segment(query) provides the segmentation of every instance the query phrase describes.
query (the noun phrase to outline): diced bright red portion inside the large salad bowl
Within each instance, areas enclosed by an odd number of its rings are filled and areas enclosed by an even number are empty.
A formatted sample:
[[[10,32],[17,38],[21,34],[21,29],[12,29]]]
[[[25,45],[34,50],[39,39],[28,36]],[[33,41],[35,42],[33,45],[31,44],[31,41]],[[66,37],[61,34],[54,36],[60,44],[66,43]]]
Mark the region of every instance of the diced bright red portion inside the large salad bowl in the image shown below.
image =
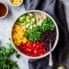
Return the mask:
[[[44,42],[31,42],[28,41],[26,44],[21,43],[19,49],[28,56],[36,57],[46,53],[44,48]]]

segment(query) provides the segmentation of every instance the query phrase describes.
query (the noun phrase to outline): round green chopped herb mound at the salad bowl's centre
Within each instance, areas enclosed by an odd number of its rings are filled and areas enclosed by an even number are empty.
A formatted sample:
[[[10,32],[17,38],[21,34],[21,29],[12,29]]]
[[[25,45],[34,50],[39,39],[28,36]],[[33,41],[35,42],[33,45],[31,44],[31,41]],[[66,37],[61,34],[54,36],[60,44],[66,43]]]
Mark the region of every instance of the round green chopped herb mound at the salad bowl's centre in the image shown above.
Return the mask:
[[[33,27],[32,29],[29,29],[26,33],[27,39],[30,41],[38,41],[40,39],[41,32],[38,31],[36,27]]]

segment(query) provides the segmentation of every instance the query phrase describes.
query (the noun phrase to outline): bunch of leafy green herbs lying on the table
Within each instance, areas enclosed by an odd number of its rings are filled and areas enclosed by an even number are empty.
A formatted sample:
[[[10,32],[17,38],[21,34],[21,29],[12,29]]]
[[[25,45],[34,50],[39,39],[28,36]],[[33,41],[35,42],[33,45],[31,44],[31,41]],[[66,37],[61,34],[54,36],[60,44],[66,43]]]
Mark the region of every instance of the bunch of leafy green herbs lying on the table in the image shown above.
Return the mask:
[[[5,48],[0,45],[0,69],[19,69],[16,62],[9,59],[9,57],[15,53],[11,44],[7,45]]]

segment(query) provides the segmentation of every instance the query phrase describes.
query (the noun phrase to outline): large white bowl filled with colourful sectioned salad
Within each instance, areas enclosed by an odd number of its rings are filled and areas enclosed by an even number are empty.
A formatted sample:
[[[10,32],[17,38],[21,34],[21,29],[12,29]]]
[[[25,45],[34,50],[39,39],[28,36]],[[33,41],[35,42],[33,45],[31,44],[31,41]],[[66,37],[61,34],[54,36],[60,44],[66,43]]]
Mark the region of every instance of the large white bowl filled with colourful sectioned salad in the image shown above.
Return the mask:
[[[14,48],[31,59],[39,59],[50,54],[49,40],[53,51],[59,39],[55,20],[47,13],[31,10],[21,14],[13,24],[11,39]]]

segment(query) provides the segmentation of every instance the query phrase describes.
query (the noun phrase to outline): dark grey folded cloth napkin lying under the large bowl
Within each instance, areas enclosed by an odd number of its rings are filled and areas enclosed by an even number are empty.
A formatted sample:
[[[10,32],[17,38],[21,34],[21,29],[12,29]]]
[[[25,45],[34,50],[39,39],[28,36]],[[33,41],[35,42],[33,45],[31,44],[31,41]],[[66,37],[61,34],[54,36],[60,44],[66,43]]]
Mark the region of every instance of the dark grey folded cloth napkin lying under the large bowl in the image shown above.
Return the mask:
[[[47,56],[38,60],[30,59],[29,69],[57,69],[57,66],[65,65],[66,59],[69,58],[67,56],[69,36],[62,2],[59,0],[24,0],[24,6],[26,10],[41,10],[50,14],[57,22],[60,33],[59,42],[53,51],[53,67],[49,67],[49,56]]]

